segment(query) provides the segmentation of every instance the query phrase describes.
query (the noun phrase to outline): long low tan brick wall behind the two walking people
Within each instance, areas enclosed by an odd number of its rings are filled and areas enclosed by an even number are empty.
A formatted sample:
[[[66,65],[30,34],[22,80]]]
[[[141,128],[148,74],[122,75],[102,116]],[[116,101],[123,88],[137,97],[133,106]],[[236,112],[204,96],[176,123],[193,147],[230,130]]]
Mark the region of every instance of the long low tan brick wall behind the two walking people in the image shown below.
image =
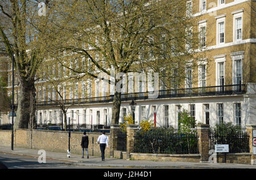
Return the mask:
[[[89,137],[88,152],[90,156],[101,156],[100,145],[96,144],[98,136],[101,133],[86,133]],[[81,139],[82,132],[71,132],[70,148],[71,154],[82,154]],[[110,134],[106,133],[106,136]],[[92,144],[93,142],[93,144]],[[11,131],[0,131],[0,144],[11,144]],[[14,131],[14,148],[32,148],[44,149],[53,152],[67,152],[68,150],[68,132],[64,131],[46,131],[46,130],[25,130],[16,129]],[[105,156],[109,156],[109,149],[106,148]]]

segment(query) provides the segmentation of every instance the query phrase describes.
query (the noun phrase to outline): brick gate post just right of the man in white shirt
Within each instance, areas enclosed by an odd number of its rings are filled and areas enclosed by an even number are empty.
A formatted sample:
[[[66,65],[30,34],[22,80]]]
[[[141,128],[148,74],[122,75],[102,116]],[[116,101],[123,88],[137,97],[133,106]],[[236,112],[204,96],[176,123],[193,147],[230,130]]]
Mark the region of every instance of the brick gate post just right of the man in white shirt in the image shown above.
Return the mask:
[[[112,124],[110,125],[110,140],[109,140],[109,146],[110,146],[110,157],[114,157],[114,151],[117,150],[117,141],[118,141],[118,132],[121,130],[119,125]]]

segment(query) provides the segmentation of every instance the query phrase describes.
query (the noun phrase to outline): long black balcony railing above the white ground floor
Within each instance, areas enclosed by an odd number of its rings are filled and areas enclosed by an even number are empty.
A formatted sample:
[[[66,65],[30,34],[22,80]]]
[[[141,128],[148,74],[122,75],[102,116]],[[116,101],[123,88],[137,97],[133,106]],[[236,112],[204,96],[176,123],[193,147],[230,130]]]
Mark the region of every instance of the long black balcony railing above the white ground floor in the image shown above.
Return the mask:
[[[246,93],[245,84],[234,85],[218,85],[210,87],[198,87],[198,88],[185,88],[185,89],[168,89],[158,91],[157,99],[160,98],[177,98],[177,97],[203,97],[203,96],[225,96],[225,95],[242,95]],[[126,93],[121,95],[122,101],[131,100],[148,100],[151,99],[152,92],[139,92],[139,93]],[[156,93],[157,95],[157,93]],[[108,103],[113,102],[114,95],[102,96],[102,97],[88,97],[77,98],[72,100],[63,100],[66,105],[75,104],[92,104],[92,103]],[[45,105],[59,105],[60,102],[56,101],[39,101],[38,106]]]

